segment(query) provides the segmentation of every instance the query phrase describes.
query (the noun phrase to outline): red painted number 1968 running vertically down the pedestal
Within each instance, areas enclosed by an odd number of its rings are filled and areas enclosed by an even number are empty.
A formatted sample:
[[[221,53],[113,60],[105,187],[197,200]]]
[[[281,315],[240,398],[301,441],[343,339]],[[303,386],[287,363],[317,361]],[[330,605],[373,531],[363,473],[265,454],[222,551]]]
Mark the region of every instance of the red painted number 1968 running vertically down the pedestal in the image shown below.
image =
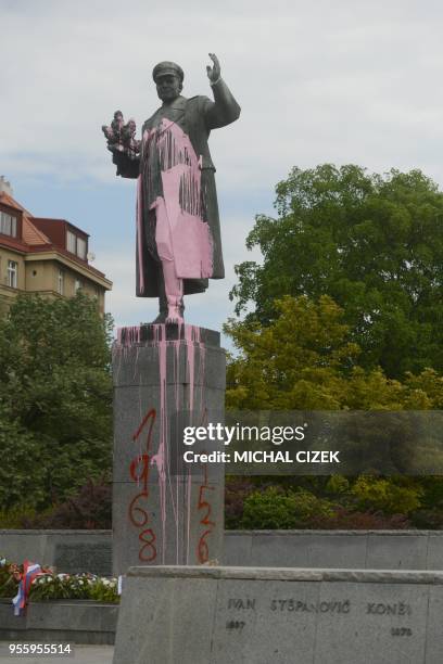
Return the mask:
[[[155,548],[155,533],[153,528],[145,527],[149,524],[149,513],[145,509],[145,503],[149,498],[149,469],[150,469],[150,451],[152,429],[154,426],[156,412],[152,408],[147,412],[140,426],[132,436],[132,442],[137,442],[144,429],[147,429],[145,451],[132,459],[129,465],[129,474],[134,482],[137,482],[141,490],[132,498],[129,503],[128,516],[130,523],[139,528],[139,540],[141,547],[139,549],[139,560],[141,562],[152,562],[155,560],[157,551]]]

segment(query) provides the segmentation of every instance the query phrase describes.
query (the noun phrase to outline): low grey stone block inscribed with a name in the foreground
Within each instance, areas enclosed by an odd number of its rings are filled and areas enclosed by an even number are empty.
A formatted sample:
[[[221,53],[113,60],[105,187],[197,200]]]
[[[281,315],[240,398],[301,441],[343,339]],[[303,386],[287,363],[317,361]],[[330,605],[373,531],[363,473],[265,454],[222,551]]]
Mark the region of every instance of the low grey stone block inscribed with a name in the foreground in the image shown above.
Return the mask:
[[[113,664],[441,664],[443,574],[132,567]]]

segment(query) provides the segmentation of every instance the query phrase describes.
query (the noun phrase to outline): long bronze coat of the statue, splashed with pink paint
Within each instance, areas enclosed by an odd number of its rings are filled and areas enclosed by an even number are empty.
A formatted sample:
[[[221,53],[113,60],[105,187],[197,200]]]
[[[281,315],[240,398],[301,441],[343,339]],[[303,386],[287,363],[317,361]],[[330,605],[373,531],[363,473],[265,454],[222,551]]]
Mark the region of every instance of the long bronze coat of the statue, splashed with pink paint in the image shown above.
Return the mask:
[[[173,230],[170,246],[178,266],[177,276],[183,278],[185,293],[203,292],[207,278],[225,276],[215,166],[207,141],[212,129],[225,127],[239,117],[240,106],[223,79],[212,90],[214,101],[207,97],[180,95],[170,105],[162,105],[142,127],[138,171],[134,162],[118,165],[124,177],[138,177],[137,295],[140,297],[159,295],[159,258],[152,244],[155,244],[153,238],[160,215],[170,221],[173,209],[176,230]],[[180,177],[179,183],[175,178],[176,186],[174,177],[170,179],[174,169]]]

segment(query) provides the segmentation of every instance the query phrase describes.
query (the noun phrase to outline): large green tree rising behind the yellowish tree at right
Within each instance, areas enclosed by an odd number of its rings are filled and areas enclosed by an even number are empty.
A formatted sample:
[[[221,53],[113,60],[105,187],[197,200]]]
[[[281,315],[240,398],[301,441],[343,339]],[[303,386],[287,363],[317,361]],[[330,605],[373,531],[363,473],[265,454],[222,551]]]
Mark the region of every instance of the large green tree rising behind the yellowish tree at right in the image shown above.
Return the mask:
[[[344,310],[367,369],[389,378],[443,371],[443,194],[419,170],[368,175],[326,164],[294,168],[276,188],[276,219],[246,240],[263,264],[237,266],[231,291],[249,322],[267,325],[283,295],[329,295]]]

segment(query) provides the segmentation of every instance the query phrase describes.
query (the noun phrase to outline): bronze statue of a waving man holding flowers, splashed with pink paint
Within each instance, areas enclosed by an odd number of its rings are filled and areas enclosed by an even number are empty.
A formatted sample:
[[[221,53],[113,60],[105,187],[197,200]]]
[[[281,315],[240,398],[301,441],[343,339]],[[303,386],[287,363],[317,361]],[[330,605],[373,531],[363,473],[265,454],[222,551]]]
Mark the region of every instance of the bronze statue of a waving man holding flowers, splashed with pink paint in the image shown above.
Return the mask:
[[[220,77],[218,59],[210,58],[214,101],[182,97],[181,67],[161,62],[152,76],[163,103],[145,120],[141,143],[132,141],[129,150],[103,128],[117,175],[138,178],[137,295],[159,297],[154,322],[182,322],[183,295],[201,293],[208,279],[225,277],[207,139],[212,129],[233,123],[240,106]]]

